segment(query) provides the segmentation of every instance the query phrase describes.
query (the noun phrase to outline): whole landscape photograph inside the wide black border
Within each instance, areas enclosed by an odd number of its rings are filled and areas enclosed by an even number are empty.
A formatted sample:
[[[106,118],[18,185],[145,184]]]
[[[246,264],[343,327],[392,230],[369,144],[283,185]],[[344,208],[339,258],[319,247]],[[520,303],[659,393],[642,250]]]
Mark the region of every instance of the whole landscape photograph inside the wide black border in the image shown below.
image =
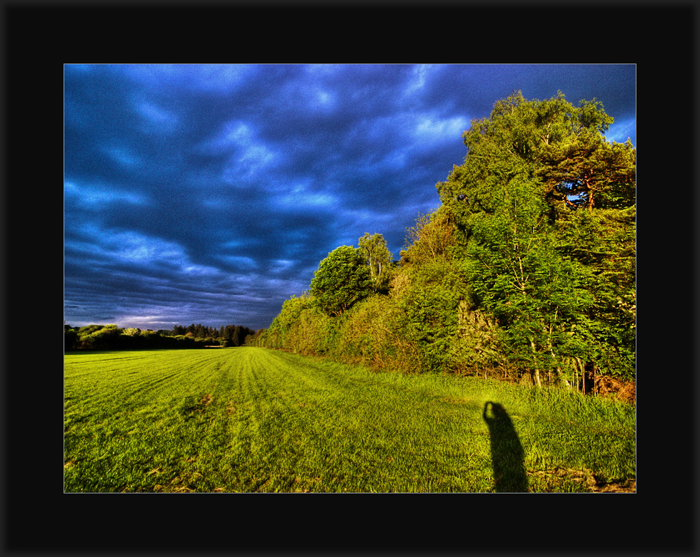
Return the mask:
[[[64,495],[629,500],[637,70],[63,64]]]

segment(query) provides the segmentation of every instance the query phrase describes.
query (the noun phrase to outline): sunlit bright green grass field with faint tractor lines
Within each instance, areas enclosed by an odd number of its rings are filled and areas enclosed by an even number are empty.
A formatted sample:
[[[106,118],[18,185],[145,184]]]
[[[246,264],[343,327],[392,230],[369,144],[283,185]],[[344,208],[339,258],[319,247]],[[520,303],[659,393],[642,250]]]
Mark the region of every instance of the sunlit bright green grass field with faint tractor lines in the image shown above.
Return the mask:
[[[66,492],[634,491],[624,403],[264,348],[64,361]]]

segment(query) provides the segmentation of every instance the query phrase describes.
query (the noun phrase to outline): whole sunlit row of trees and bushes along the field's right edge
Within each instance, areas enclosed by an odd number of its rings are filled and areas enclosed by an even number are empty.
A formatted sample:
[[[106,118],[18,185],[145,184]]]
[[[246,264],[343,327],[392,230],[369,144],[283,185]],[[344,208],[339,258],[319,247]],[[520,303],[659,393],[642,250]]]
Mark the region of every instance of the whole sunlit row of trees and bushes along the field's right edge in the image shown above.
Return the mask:
[[[340,246],[250,342],[582,391],[633,381],[636,151],[606,140],[612,122],[561,92],[496,102],[398,263],[380,234]]]

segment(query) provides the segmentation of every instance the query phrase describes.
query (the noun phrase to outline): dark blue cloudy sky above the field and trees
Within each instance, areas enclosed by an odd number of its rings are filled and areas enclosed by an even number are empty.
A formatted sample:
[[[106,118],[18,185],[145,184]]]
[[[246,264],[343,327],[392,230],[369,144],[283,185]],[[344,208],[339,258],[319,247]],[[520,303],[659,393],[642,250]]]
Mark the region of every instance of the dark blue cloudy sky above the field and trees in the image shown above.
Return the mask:
[[[633,64],[66,65],[66,323],[266,328],[336,247],[398,259],[517,89],[595,97],[636,145]]]

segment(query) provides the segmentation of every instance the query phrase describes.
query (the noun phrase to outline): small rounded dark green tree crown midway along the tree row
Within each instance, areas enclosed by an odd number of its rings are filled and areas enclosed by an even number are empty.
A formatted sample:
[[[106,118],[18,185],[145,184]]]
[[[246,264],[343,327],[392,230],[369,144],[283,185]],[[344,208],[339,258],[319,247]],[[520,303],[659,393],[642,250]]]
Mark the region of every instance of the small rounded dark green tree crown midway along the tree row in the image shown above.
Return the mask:
[[[321,261],[311,279],[314,305],[329,316],[339,316],[369,296],[371,271],[359,250],[340,246]]]

